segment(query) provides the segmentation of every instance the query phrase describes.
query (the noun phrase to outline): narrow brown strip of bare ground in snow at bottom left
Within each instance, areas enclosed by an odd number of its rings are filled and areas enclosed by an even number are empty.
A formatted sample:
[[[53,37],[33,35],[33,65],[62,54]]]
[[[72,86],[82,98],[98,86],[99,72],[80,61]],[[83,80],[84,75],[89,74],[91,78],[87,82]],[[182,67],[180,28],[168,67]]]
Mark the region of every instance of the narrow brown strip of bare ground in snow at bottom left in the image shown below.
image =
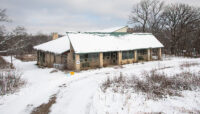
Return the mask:
[[[33,109],[31,114],[49,114],[51,106],[56,103],[56,95],[53,95],[48,103],[41,104],[40,106]]]

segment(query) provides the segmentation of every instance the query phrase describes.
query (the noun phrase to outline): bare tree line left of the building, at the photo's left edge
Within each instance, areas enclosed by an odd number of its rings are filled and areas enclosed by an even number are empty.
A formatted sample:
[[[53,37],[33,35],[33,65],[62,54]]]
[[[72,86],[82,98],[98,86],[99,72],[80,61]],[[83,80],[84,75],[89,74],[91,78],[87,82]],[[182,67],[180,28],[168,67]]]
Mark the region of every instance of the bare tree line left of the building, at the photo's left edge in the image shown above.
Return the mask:
[[[0,9],[0,52],[14,55],[30,54],[34,53],[33,46],[52,40],[51,35],[29,34],[23,26],[17,26],[8,32],[4,24],[11,22],[6,15],[6,9]]]

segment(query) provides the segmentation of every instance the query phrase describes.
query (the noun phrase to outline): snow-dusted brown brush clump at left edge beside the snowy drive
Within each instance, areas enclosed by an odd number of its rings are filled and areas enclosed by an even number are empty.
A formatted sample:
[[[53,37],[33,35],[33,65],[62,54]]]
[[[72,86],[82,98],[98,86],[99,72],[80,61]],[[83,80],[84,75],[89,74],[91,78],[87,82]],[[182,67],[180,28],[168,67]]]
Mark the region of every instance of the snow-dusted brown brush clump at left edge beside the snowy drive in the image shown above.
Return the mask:
[[[9,69],[0,72],[0,95],[15,92],[25,81],[21,79],[21,73]]]

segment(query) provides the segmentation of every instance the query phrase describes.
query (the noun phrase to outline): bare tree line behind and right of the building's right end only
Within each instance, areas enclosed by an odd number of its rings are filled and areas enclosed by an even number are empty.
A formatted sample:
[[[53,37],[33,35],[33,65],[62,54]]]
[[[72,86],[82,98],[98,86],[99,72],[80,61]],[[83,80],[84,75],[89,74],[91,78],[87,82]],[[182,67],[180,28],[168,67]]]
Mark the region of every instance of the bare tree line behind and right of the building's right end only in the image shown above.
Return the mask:
[[[155,35],[164,44],[166,54],[200,53],[199,7],[142,0],[133,6],[128,23],[133,25],[134,32],[150,32]]]

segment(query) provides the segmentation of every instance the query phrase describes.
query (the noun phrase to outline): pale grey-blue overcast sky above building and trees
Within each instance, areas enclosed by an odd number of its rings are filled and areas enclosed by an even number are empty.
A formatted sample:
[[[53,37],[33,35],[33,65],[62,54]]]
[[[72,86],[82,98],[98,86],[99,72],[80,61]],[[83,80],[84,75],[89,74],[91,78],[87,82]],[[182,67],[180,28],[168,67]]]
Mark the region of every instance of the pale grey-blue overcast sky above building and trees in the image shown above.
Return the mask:
[[[139,0],[0,0],[12,23],[31,33],[85,31],[127,25],[128,15]],[[165,0],[200,6],[200,0]]]

